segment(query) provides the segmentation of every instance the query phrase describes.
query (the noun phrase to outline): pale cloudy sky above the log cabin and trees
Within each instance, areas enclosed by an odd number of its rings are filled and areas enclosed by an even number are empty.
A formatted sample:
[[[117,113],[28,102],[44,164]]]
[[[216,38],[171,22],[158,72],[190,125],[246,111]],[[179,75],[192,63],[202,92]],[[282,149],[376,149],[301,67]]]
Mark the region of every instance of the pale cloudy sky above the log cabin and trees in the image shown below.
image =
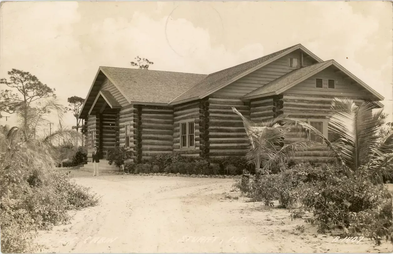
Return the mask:
[[[301,43],[382,94],[393,112],[391,2],[1,4],[0,78],[30,72],[65,106],[86,97],[99,66],[131,68],[137,55],[151,70],[209,74]],[[64,123],[75,125],[71,113]]]

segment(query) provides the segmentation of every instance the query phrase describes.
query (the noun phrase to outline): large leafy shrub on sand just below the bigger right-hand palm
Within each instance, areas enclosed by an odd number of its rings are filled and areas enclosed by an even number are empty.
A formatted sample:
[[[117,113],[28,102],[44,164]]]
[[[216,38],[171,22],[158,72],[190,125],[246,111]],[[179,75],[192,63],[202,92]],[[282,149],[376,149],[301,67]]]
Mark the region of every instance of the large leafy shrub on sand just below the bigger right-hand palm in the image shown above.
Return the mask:
[[[346,230],[354,214],[378,207],[386,197],[386,191],[383,186],[371,183],[367,177],[349,179],[339,175],[307,184],[300,190],[300,197],[323,232],[336,226]]]

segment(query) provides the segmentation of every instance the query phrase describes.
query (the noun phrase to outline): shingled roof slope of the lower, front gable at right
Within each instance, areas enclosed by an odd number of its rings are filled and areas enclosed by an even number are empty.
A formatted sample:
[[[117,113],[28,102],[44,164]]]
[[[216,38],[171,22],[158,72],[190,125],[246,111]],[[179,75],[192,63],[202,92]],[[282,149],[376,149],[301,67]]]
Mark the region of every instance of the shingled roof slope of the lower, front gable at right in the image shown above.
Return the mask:
[[[259,87],[253,90],[252,92],[249,92],[248,94],[244,95],[243,98],[276,92],[277,90],[285,88],[286,86],[296,82],[297,80],[311,74],[312,72],[321,68],[322,66],[330,65],[329,63],[332,63],[332,60],[325,61],[322,63],[312,64],[303,68],[293,70],[292,72],[288,72],[287,74],[282,75],[281,77],[274,79],[273,81],[270,81],[266,85]]]

